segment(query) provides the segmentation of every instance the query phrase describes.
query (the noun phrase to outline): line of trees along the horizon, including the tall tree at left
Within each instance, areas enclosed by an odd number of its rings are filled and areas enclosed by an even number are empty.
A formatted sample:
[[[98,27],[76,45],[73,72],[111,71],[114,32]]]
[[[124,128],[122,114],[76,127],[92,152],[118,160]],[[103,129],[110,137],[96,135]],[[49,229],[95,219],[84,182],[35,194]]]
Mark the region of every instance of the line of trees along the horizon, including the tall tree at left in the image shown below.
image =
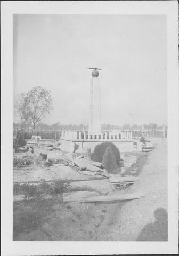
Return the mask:
[[[13,123],[13,129],[37,129],[37,130],[88,130],[88,125],[85,124],[61,124],[56,122],[52,125],[43,123],[43,119],[51,114],[53,109],[53,98],[51,91],[44,89],[42,86],[32,88],[27,93],[17,95],[14,101],[14,114],[21,119],[20,123]],[[143,125],[129,124],[113,125],[102,124],[102,130],[142,130],[142,129],[162,129],[156,123],[149,123]],[[167,127],[166,127],[167,129]]]

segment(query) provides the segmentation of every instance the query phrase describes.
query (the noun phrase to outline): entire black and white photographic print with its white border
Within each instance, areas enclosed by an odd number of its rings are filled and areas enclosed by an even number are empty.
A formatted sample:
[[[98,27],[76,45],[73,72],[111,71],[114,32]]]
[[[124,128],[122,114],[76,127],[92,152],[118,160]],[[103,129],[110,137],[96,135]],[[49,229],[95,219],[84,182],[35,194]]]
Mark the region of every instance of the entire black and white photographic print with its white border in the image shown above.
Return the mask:
[[[67,1],[69,12],[55,13],[40,12],[51,1],[36,1],[39,12],[35,5],[30,12],[25,2],[26,11],[11,13],[11,100],[2,95],[12,107],[2,105],[12,117],[12,156],[4,163],[12,177],[11,242],[165,242],[174,250],[169,218],[178,211],[170,205],[178,202],[169,191],[178,184],[178,63],[169,47],[177,41],[169,38],[177,34],[171,13],[142,6],[166,2],[164,10],[172,6],[176,14],[177,2],[114,1],[141,2],[131,14],[83,12],[80,2],[91,1]],[[75,2],[79,13],[70,11]],[[101,2],[90,6],[108,9],[109,1]],[[6,248],[4,255],[17,253]]]

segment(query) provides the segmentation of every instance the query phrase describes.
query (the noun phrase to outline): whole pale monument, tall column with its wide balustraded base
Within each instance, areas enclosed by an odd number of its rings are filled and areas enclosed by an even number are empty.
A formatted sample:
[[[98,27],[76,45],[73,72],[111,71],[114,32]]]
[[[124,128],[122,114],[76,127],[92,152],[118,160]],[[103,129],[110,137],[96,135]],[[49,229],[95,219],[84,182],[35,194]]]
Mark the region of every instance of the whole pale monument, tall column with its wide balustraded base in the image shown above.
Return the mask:
[[[134,150],[133,134],[131,130],[101,130],[101,86],[99,71],[100,68],[90,68],[92,78],[90,83],[90,122],[89,130],[61,131],[60,148],[64,151],[84,153],[84,150],[91,149],[102,142],[112,141],[121,152]],[[139,142],[141,143],[141,142]],[[78,149],[76,149],[76,146]],[[137,150],[138,150],[137,146]],[[141,149],[140,149],[141,150]]]

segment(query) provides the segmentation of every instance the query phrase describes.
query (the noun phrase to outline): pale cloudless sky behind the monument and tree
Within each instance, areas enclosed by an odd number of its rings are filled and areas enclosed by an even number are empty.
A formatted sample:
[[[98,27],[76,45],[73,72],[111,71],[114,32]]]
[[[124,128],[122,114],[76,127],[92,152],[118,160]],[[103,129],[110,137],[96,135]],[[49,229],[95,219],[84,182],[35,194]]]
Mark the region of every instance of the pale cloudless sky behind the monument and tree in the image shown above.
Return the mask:
[[[14,15],[14,95],[51,90],[52,124],[88,124],[102,68],[102,123],[167,124],[165,15]],[[17,121],[17,119],[14,119]]]

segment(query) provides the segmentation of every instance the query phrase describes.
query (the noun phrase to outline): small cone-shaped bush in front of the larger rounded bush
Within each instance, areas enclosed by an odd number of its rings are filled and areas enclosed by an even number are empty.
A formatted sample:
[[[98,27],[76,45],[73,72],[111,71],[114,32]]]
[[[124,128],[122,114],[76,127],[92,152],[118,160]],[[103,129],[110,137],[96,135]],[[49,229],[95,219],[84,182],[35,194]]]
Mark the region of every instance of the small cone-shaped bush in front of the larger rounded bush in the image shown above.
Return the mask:
[[[111,147],[107,147],[102,159],[102,166],[108,173],[112,173],[117,168],[116,157],[112,152]]]

